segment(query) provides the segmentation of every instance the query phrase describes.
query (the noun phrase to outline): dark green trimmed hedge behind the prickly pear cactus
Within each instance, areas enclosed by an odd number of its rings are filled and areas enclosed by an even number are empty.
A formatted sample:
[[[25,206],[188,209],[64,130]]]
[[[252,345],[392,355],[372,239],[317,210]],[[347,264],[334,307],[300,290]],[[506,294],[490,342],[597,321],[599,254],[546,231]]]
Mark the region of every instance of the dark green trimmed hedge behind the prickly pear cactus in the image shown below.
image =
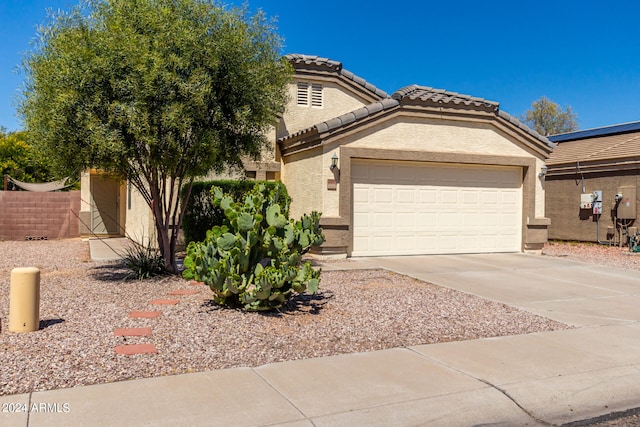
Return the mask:
[[[267,190],[275,188],[277,183],[273,181],[259,181],[264,184]],[[225,216],[224,211],[213,204],[211,198],[211,188],[220,187],[224,193],[231,195],[234,200],[244,199],[245,194],[251,191],[256,181],[242,180],[218,180],[194,182],[191,188],[191,197],[186,202],[187,206],[182,220],[182,231],[184,232],[185,244],[190,242],[201,242],[207,237],[207,231],[216,225],[222,225]],[[285,215],[289,215],[286,210],[291,203],[291,198],[284,185],[280,188],[280,198],[278,203]],[[182,189],[182,194],[186,193],[188,187]]]

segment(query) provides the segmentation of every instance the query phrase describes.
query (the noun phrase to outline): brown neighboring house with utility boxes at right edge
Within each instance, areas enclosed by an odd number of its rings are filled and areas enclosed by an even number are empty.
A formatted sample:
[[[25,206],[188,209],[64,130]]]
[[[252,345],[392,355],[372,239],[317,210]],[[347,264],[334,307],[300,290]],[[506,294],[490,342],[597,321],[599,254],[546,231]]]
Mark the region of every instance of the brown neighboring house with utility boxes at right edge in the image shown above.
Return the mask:
[[[625,243],[637,225],[640,122],[549,139],[557,144],[545,183],[549,238]],[[599,204],[594,192],[601,195]]]

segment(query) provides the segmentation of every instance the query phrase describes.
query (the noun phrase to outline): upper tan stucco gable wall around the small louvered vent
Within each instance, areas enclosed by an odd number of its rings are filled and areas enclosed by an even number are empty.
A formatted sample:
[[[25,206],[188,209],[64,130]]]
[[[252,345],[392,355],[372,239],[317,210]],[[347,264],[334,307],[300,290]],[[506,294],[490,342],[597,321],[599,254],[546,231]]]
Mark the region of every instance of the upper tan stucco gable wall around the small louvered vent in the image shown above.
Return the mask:
[[[322,107],[302,107],[297,105],[298,81],[323,85]],[[307,129],[368,104],[366,100],[356,94],[345,92],[345,89],[336,83],[306,78],[294,80],[294,83],[289,85],[289,99],[289,105],[282,116],[277,131],[278,138]]]

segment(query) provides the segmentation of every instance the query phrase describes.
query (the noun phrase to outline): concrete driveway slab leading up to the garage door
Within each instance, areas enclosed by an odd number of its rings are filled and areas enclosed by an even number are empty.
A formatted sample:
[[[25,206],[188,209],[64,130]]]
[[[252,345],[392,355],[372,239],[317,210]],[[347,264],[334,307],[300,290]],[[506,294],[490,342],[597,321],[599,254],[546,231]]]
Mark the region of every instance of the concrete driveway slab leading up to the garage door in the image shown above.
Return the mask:
[[[573,326],[640,320],[640,273],[509,253],[354,258]]]

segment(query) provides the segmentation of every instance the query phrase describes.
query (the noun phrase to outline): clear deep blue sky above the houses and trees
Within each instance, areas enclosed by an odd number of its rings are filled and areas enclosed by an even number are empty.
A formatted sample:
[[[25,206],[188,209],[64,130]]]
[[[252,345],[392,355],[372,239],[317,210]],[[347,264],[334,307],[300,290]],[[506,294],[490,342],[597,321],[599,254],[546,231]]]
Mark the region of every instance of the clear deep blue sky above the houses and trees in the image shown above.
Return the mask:
[[[226,1],[226,4],[241,4]],[[0,0],[0,126],[21,128],[15,73],[46,9]],[[640,2],[250,0],[278,19],[283,53],[328,57],[392,93],[420,84],[500,102],[520,116],[546,96],[581,129],[640,120]]]

